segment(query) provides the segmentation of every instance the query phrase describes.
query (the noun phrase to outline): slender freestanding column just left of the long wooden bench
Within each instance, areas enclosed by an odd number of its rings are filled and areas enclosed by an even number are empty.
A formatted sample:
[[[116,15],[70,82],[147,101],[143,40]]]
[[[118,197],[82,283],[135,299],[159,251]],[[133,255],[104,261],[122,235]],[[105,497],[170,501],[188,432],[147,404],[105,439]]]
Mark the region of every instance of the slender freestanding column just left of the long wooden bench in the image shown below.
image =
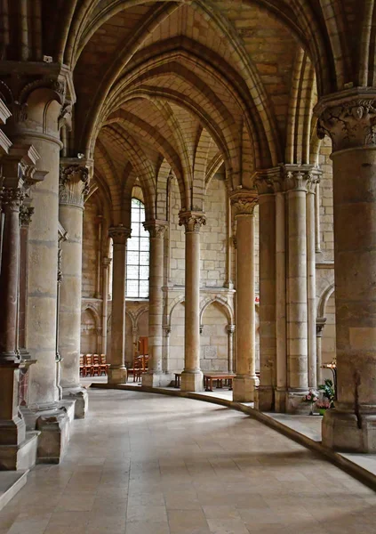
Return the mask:
[[[201,392],[204,376],[200,369],[200,228],[206,224],[203,212],[180,213],[186,230],[184,371],[181,391]]]

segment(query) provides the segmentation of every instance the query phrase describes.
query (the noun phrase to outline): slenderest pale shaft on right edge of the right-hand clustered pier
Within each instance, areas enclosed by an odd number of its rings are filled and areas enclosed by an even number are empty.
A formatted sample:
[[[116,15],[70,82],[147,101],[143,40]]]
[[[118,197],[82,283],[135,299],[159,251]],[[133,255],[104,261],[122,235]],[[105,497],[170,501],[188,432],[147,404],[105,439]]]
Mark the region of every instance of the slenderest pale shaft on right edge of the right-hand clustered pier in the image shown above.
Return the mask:
[[[308,320],[308,387],[317,387],[316,354],[316,186],[318,171],[312,170],[307,193],[307,320]]]

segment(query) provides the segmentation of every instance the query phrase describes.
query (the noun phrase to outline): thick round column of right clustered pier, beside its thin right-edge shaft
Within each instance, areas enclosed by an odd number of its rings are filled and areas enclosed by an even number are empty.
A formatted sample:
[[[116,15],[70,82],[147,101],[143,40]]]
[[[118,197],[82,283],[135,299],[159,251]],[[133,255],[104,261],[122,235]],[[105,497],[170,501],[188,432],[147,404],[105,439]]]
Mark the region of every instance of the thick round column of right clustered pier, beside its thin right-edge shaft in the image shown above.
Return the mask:
[[[295,412],[308,392],[307,187],[312,166],[285,166],[288,210],[286,410]]]

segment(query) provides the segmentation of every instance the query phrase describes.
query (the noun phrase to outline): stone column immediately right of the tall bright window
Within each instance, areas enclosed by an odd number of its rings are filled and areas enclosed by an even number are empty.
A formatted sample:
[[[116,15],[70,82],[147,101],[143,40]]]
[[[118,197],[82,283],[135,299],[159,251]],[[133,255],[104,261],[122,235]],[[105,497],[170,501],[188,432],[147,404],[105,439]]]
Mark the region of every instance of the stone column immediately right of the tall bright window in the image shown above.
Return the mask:
[[[162,366],[163,318],[164,318],[164,221],[144,223],[150,234],[150,271],[148,296],[148,373],[142,376],[142,384],[158,387],[168,384],[164,380]]]

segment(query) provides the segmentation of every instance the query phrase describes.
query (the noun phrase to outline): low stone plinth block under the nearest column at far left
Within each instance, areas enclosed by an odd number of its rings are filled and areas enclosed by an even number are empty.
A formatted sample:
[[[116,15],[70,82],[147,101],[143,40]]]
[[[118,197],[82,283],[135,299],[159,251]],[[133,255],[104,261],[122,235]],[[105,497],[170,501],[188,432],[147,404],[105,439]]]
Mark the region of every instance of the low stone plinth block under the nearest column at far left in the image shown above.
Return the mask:
[[[36,465],[39,432],[26,433],[19,445],[0,445],[0,471],[23,471]]]

